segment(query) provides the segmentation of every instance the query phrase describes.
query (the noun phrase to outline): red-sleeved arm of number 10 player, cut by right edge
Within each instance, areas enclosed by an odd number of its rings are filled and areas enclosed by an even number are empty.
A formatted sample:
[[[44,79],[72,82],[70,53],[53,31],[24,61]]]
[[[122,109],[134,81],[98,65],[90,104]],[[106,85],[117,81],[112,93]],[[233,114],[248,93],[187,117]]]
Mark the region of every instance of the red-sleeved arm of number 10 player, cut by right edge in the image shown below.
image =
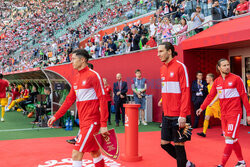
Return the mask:
[[[247,122],[250,124],[250,104],[248,102],[247,92],[242,79],[237,80],[237,91],[239,92],[240,98],[247,112]]]

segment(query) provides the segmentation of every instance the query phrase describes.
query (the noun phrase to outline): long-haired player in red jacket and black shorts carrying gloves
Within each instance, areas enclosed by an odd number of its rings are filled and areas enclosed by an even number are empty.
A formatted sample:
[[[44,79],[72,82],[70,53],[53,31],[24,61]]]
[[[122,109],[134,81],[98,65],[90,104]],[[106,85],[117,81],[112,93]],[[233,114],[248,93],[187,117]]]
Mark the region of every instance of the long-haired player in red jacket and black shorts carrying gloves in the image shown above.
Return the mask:
[[[158,56],[164,63],[161,67],[161,92],[164,116],[162,118],[161,147],[177,160],[178,167],[194,167],[187,160],[180,129],[190,116],[190,86],[186,66],[177,61],[174,46],[164,42],[158,47]],[[187,122],[189,122],[187,120]],[[178,126],[179,125],[179,126]],[[174,142],[174,145],[171,144]]]

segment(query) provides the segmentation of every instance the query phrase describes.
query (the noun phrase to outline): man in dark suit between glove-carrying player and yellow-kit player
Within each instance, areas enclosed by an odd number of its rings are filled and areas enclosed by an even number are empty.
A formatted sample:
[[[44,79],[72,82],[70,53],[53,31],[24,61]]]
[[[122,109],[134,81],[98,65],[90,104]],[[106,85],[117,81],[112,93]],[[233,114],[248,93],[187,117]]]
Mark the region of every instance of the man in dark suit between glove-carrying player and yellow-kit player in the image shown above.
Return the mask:
[[[200,117],[196,115],[196,110],[198,110],[205,100],[208,91],[207,91],[207,82],[202,80],[203,73],[198,71],[196,73],[197,80],[192,83],[192,102],[194,104],[194,112],[195,112],[195,121],[193,128],[197,128],[199,124]]]

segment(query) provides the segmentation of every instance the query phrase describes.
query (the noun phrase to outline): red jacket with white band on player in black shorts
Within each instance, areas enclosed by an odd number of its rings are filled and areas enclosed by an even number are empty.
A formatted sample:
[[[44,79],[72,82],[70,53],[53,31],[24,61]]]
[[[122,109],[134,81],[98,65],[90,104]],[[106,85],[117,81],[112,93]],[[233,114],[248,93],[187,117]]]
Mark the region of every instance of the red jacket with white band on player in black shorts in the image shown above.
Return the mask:
[[[190,86],[186,66],[173,58],[161,67],[161,93],[164,116],[190,115]]]

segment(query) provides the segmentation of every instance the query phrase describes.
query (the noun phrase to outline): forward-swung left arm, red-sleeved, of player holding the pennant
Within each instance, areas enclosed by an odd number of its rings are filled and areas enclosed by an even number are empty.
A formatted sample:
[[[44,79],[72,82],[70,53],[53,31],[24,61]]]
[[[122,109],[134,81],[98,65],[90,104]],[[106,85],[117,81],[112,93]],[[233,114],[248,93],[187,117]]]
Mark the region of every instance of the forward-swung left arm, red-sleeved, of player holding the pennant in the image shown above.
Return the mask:
[[[71,87],[68,96],[66,97],[65,101],[63,102],[62,106],[56,112],[56,114],[48,120],[48,126],[52,126],[52,124],[61,118],[67,110],[72,106],[72,104],[76,101],[76,93],[73,87]]]

